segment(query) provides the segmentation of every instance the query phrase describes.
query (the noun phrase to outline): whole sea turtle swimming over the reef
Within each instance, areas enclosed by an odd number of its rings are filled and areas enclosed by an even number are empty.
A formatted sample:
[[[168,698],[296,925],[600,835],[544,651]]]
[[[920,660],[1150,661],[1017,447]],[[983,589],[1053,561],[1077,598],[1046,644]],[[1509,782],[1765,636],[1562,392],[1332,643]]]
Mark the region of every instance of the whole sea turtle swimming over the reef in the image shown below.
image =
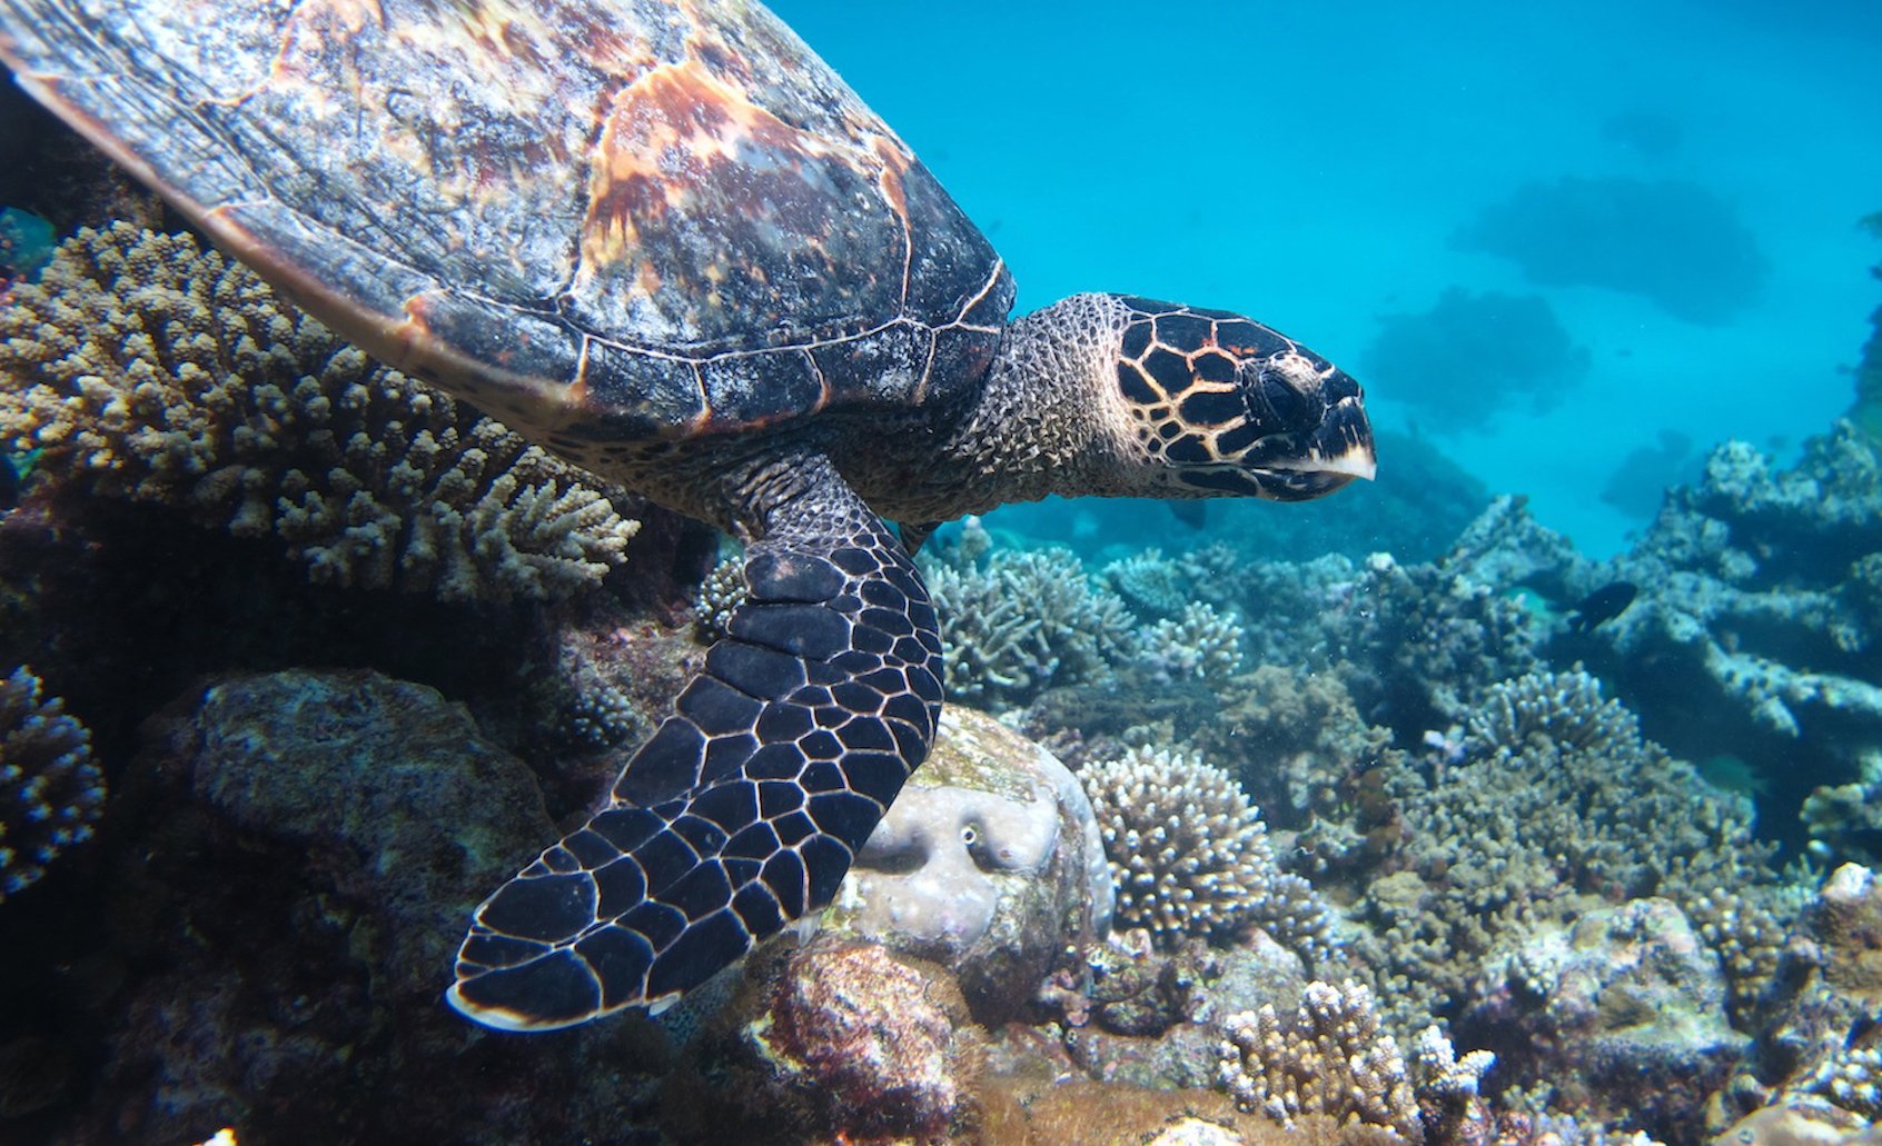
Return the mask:
[[[487,1026],[659,1007],[828,903],[935,732],[935,523],[1374,470],[1359,386],[1257,322],[1009,322],[981,231],[758,4],[0,0],[0,40],[344,337],[747,546],[606,807],[476,909],[448,999]]]

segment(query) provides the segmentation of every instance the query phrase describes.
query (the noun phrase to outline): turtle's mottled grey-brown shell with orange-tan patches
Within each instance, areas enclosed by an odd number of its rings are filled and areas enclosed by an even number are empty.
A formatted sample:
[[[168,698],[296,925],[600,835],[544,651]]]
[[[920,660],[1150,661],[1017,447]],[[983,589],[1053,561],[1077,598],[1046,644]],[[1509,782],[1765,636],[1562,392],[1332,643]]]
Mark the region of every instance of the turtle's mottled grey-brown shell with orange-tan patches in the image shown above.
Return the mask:
[[[574,454],[960,397],[1013,303],[758,4],[0,0],[0,32],[218,245]]]

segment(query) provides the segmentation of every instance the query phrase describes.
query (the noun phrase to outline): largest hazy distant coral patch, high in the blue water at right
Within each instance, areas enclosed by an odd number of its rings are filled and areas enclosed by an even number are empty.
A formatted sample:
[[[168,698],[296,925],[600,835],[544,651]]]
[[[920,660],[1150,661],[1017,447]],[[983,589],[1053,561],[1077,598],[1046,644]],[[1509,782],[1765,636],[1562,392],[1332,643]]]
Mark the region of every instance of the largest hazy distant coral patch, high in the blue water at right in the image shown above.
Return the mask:
[[[1758,299],[1767,263],[1716,194],[1683,179],[1526,183],[1457,233],[1545,286],[1605,286],[1718,326]]]

